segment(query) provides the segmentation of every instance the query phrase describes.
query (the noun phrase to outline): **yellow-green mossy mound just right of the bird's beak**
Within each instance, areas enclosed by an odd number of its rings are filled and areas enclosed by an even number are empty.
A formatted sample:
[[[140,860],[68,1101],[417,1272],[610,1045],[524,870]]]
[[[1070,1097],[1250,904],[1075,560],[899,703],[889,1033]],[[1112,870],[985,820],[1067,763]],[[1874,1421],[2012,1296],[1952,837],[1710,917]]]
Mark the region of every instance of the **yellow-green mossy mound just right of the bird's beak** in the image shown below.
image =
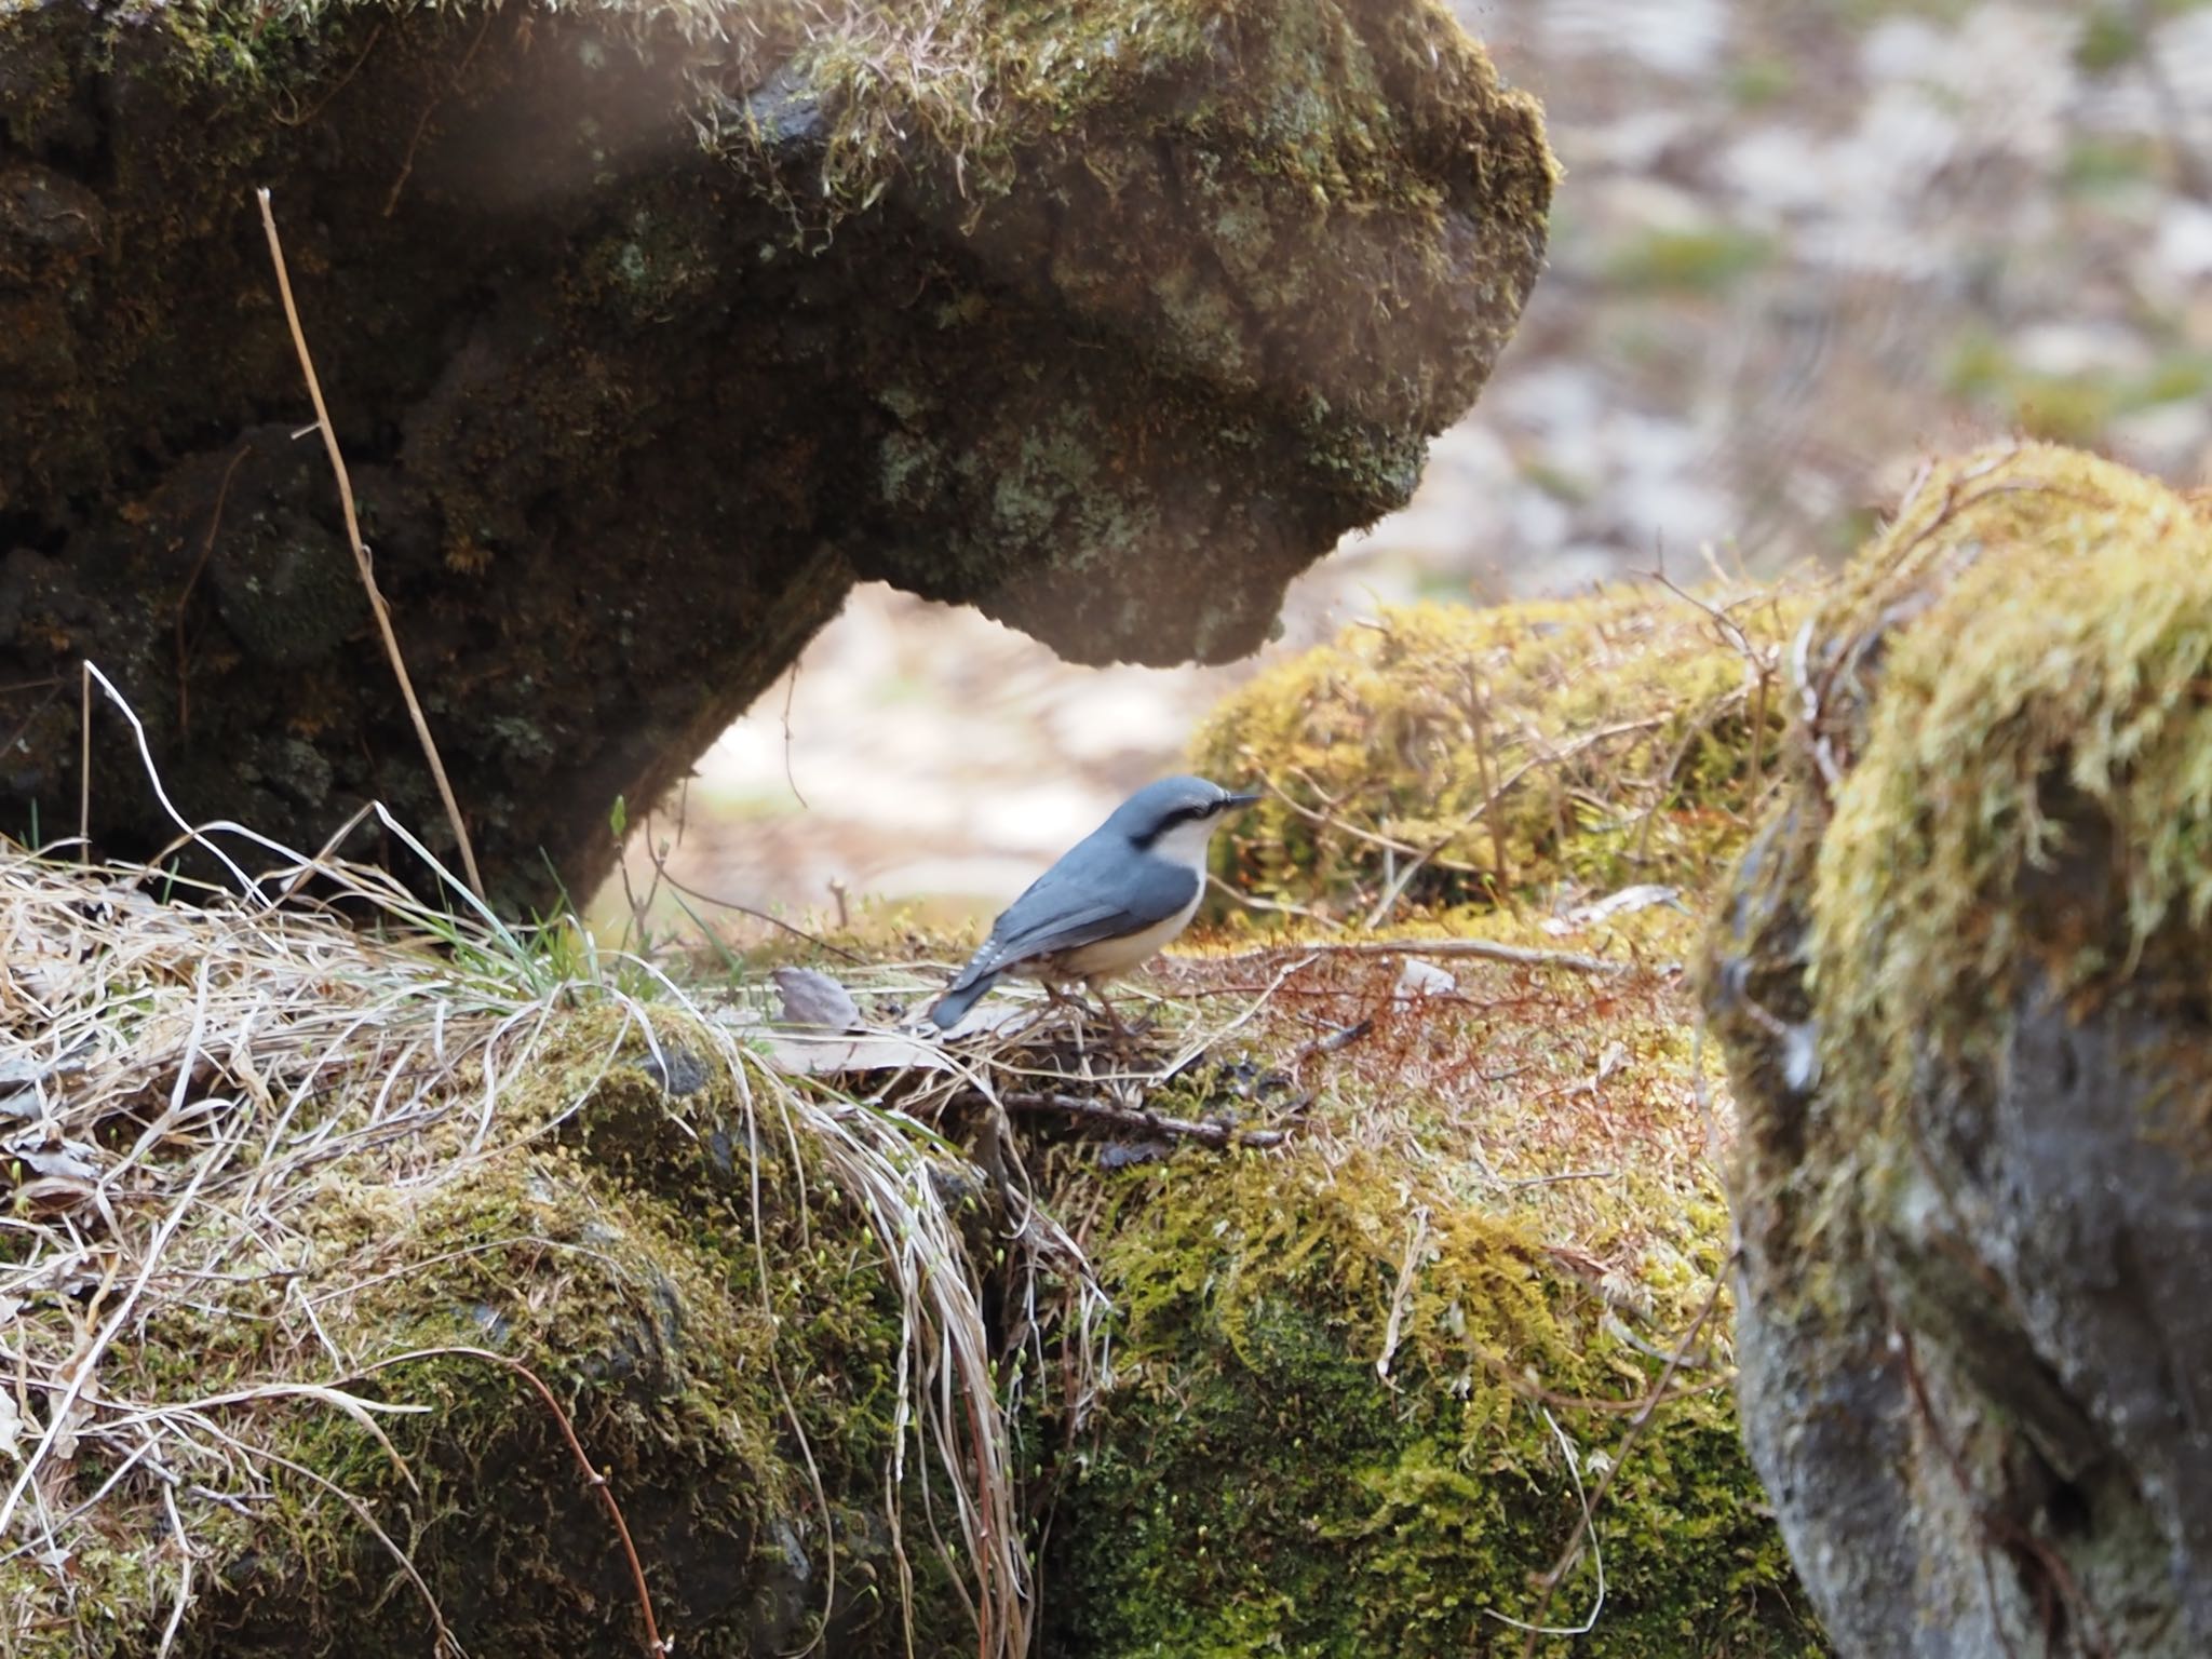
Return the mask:
[[[1230,880],[1345,916],[1418,854],[1407,907],[1701,885],[1774,776],[1801,611],[1710,602],[1728,626],[1655,591],[1394,608],[1256,677],[1194,741],[1199,770],[1281,792],[1230,843]]]

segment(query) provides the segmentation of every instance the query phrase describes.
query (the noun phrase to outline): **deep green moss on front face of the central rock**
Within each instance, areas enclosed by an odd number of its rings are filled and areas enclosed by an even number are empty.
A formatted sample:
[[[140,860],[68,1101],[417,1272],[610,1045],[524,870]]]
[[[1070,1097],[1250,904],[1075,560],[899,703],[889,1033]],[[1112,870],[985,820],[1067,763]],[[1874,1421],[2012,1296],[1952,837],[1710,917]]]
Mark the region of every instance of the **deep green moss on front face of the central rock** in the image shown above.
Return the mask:
[[[1579,1517],[1537,1398],[1595,1482],[1624,1418],[1562,1396],[1619,1398],[1657,1371],[1604,1301],[1511,1210],[1409,1188],[1374,1157],[1179,1159],[1126,1177],[1115,1206],[1099,1270],[1124,1380],[1064,1500],[1082,1526],[1060,1533],[1073,1613],[1055,1650],[1515,1652],[1484,1608],[1533,1617],[1531,1575]],[[1725,1228],[1714,1208],[1705,1223]],[[1672,1287],[1661,1323],[1701,1290]],[[1781,1593],[1725,1394],[1666,1407],[1597,1535],[1608,1599],[1577,1652],[1820,1652]],[[1584,1566],[1551,1621],[1590,1593]]]

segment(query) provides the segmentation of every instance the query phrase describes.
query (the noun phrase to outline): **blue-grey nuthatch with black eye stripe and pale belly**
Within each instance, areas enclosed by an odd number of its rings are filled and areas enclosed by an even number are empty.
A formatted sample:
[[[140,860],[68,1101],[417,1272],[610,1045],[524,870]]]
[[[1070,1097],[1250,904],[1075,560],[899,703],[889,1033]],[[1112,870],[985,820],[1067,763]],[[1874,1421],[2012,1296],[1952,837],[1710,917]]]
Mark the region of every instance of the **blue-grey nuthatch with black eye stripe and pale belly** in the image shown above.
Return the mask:
[[[1206,894],[1206,843],[1228,812],[1259,801],[1206,779],[1161,779],[1137,790],[991,922],[991,938],[929,1011],[940,1031],[967,1018],[1000,975],[1060,987],[1082,980],[1119,1018],[1099,980],[1172,940]]]

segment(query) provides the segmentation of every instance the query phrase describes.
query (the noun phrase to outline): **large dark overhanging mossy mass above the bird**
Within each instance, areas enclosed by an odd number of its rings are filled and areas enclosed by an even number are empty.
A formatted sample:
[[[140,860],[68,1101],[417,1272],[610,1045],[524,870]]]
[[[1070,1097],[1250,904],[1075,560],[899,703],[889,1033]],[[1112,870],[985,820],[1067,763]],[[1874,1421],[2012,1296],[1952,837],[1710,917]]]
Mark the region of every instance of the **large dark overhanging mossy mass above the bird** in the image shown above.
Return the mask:
[[[270,186],[509,902],[588,889],[856,577],[1250,650],[1482,387],[1551,197],[1427,0],[15,7],[0,117],[4,827],[75,825],[91,657],[188,816],[447,849]],[[161,845],[93,754],[95,838]]]

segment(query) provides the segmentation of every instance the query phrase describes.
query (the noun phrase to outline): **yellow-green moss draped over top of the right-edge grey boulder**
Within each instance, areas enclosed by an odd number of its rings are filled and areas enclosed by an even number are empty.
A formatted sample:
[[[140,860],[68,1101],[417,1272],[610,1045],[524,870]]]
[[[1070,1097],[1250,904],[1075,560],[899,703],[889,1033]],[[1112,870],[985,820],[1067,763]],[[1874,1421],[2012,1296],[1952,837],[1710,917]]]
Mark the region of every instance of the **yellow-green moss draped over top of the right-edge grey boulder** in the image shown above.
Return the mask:
[[[2062,998],[2121,995],[2212,911],[2212,524],[2095,456],[1973,456],[1927,478],[1812,637],[1814,737],[1843,772],[1812,987],[1838,1110],[1871,1128],[1922,1055],[2008,1029],[2022,962]],[[2024,894],[2093,834],[2124,849],[2110,894]]]

